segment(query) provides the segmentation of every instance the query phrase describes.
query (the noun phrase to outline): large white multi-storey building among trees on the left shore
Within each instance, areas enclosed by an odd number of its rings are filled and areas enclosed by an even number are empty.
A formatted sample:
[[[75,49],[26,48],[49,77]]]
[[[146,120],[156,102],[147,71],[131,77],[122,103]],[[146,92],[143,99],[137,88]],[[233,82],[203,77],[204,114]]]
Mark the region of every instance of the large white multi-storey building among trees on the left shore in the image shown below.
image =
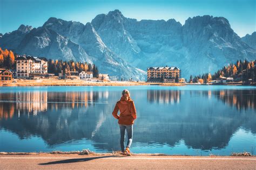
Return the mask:
[[[19,56],[16,59],[16,76],[30,77],[32,74],[46,74],[48,60],[33,56]]]

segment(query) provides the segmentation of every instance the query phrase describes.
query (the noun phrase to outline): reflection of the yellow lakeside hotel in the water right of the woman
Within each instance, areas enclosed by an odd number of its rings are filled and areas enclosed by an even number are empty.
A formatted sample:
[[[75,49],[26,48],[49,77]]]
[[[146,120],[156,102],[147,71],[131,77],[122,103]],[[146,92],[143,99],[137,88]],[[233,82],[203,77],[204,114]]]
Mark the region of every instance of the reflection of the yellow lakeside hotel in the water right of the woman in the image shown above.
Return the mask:
[[[147,90],[147,101],[153,103],[179,103],[180,90]]]

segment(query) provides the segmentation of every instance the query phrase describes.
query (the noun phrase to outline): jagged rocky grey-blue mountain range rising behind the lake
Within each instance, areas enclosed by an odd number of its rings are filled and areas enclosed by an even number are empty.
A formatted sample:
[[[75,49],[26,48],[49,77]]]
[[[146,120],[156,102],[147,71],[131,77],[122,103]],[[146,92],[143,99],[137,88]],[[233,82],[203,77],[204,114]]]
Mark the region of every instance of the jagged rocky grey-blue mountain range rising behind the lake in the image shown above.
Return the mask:
[[[114,10],[85,25],[57,18],[33,30],[22,25],[4,34],[0,47],[19,54],[93,62],[101,73],[145,80],[150,66],[178,66],[187,78],[213,73],[236,60],[255,59],[253,40],[242,39],[223,17],[197,16],[181,25],[175,19],[138,21]]]

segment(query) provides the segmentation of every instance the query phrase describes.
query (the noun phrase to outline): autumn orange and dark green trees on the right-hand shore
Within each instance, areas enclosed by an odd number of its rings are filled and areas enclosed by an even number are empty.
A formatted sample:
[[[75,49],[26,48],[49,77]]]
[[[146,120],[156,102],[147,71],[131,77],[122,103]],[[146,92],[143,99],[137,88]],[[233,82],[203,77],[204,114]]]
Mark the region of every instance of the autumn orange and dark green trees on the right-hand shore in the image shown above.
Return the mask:
[[[256,69],[254,67],[254,60],[237,60],[235,63],[230,63],[229,65],[219,69],[213,75],[206,73],[203,75],[192,76],[190,75],[190,83],[208,83],[212,80],[217,80],[219,77],[233,77],[234,81],[246,82],[252,79],[255,82]]]

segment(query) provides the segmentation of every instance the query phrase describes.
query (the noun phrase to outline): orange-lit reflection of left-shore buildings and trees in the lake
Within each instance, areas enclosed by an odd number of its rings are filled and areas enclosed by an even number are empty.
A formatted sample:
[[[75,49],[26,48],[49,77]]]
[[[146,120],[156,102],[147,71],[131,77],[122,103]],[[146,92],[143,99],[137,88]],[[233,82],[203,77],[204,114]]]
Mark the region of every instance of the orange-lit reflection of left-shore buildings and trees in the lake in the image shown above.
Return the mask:
[[[100,99],[107,101],[108,91],[79,91],[79,92],[48,92],[27,91],[17,93],[2,93],[0,95],[0,119],[12,118],[15,114],[36,116],[38,112],[45,112],[63,108],[82,108],[95,105]]]

